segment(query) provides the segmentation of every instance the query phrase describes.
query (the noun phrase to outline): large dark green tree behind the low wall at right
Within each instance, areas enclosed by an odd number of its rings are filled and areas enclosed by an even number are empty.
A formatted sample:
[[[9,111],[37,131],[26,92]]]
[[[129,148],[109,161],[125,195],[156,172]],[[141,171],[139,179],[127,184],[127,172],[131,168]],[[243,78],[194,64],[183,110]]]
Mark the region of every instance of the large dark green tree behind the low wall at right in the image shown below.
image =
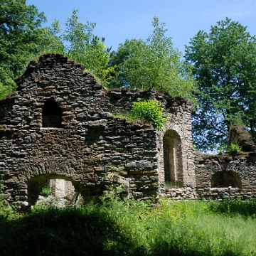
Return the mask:
[[[255,130],[255,37],[229,18],[217,24],[210,33],[199,31],[186,46],[185,55],[199,88],[193,140],[203,151],[226,146],[235,119],[250,124],[251,132]]]

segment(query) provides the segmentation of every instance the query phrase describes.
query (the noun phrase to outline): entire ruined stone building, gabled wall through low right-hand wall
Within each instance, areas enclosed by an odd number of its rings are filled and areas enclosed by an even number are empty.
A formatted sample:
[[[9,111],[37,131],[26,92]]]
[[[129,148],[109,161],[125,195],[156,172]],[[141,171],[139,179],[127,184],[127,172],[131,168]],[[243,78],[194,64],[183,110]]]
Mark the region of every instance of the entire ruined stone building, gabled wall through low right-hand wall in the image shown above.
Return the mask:
[[[10,204],[30,208],[50,183],[53,194],[73,202],[105,195],[109,186],[135,199],[256,197],[255,146],[223,156],[194,151],[188,100],[106,90],[81,64],[53,54],[32,61],[16,83],[0,101],[2,196]],[[168,122],[160,131],[115,116],[139,99],[161,102]]]

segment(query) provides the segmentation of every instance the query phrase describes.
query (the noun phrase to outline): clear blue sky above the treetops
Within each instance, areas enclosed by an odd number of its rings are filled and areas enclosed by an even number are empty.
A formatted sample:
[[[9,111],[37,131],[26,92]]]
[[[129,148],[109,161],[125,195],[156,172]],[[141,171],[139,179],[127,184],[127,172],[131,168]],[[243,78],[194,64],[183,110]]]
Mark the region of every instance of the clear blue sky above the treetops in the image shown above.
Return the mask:
[[[208,32],[226,17],[247,26],[251,36],[256,35],[255,0],[27,0],[26,4],[44,12],[48,18],[44,26],[55,19],[63,25],[73,9],[79,9],[80,21],[96,22],[94,34],[105,37],[105,45],[112,50],[125,39],[150,36],[154,16],[166,23],[166,36],[182,52],[199,30]]]

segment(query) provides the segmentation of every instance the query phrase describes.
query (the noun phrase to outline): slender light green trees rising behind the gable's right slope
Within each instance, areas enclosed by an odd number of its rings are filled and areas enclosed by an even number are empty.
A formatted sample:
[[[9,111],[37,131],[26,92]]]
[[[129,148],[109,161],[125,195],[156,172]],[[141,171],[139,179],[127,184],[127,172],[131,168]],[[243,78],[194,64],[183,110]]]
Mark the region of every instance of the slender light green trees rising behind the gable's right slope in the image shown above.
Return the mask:
[[[78,10],[74,9],[72,16],[67,19],[65,28],[60,28],[58,21],[52,23],[45,33],[48,38],[54,38],[50,48],[58,53],[68,55],[70,60],[82,63],[87,70],[107,83],[112,79],[112,68],[108,68],[110,50],[104,45],[105,38],[99,38],[92,32],[96,23],[87,21],[81,23]],[[43,43],[46,46],[46,43]]]

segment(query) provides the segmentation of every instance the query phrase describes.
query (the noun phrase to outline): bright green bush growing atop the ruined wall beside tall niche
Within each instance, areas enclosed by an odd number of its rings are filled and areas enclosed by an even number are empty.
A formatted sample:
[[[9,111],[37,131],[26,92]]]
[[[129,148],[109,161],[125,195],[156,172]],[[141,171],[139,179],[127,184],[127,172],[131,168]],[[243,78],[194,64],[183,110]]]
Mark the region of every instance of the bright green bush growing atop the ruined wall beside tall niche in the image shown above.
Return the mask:
[[[152,124],[156,129],[161,129],[163,124],[167,122],[167,118],[164,118],[163,114],[161,103],[155,100],[139,100],[132,104],[132,115],[134,118],[142,119]]]

